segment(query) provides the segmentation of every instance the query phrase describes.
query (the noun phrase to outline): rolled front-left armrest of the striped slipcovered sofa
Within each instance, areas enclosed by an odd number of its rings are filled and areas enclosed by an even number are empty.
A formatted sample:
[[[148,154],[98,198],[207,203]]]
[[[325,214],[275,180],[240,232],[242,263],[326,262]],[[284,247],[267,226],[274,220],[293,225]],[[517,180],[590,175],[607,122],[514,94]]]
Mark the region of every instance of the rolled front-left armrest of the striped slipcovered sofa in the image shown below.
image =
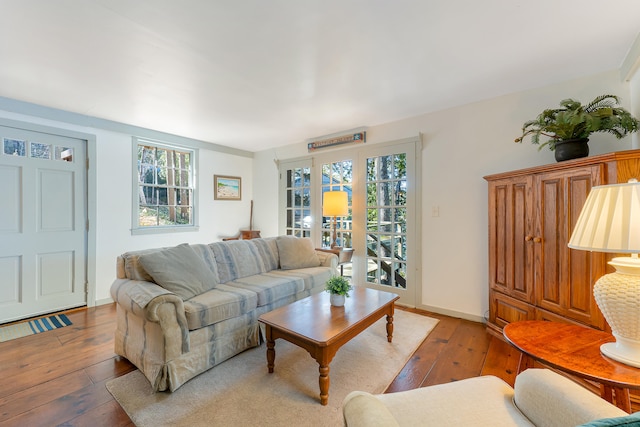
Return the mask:
[[[153,282],[116,279],[111,285],[111,297],[123,310],[158,323],[165,337],[180,337],[179,351],[189,351],[189,328],[179,296]],[[175,338],[166,342],[173,341]]]

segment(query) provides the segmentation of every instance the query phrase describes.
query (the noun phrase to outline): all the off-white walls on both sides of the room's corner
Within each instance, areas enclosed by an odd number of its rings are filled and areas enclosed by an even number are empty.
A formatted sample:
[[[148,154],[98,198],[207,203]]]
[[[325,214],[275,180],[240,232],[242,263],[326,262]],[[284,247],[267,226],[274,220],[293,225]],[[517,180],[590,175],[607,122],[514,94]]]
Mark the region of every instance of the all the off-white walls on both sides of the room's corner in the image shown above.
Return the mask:
[[[422,307],[447,314],[481,319],[488,307],[487,295],[487,191],[483,176],[554,162],[553,153],[537,151],[528,142],[515,144],[522,123],[564,98],[589,101],[613,93],[629,108],[629,83],[620,82],[619,71],[572,80],[562,84],[510,94],[393,123],[371,126],[367,144],[423,134],[422,153]],[[637,80],[633,96],[640,104]],[[14,111],[20,111],[16,113]],[[131,134],[93,126],[49,120],[24,109],[0,110],[0,117],[69,129],[96,137],[97,191],[95,286],[98,303],[110,300],[115,259],[126,251],[170,246],[183,242],[205,243],[234,235],[249,224],[254,199],[254,229],[262,236],[278,234],[278,169],[274,160],[307,155],[300,142],[276,150],[255,153],[253,159],[207,149],[200,150],[200,231],[193,233],[132,236]],[[358,123],[360,125],[360,123]],[[143,135],[144,136],[144,135]],[[313,137],[315,135],[309,135]],[[631,148],[631,138],[613,140],[595,135],[591,153]],[[214,201],[213,175],[241,176],[242,201]],[[440,216],[431,217],[432,206]]]

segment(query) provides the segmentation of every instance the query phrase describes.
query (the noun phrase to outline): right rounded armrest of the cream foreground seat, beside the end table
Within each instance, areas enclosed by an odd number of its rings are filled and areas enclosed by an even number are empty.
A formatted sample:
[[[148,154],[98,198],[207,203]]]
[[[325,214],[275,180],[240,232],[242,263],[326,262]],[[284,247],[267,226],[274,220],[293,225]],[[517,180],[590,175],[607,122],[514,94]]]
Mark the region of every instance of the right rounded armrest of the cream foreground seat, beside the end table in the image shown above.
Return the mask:
[[[549,369],[527,369],[516,377],[514,402],[535,425],[580,425],[598,418],[628,415]]]

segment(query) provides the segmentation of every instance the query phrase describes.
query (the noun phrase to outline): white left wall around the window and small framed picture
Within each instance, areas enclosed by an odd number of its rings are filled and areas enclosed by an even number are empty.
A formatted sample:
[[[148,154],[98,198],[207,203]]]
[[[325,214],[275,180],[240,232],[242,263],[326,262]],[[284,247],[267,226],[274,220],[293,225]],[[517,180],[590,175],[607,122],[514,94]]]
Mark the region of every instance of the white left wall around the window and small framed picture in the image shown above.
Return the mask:
[[[60,114],[64,116],[64,114]],[[249,226],[250,201],[253,194],[253,159],[209,149],[199,150],[199,224],[198,232],[153,235],[131,235],[131,187],[133,159],[132,134],[95,127],[78,126],[64,121],[49,120],[29,114],[0,110],[0,117],[95,135],[96,232],[95,286],[98,304],[111,301],[109,288],[115,279],[116,257],[136,249],[172,246],[180,243],[210,243],[237,234]],[[144,133],[144,130],[141,130]],[[142,135],[145,136],[145,135]],[[172,136],[167,136],[168,141]],[[156,138],[158,139],[158,138]],[[162,140],[162,139],[160,139]],[[175,141],[174,141],[175,142]],[[212,146],[213,147],[213,146]],[[242,178],[242,200],[213,199],[213,175],[232,175]]]

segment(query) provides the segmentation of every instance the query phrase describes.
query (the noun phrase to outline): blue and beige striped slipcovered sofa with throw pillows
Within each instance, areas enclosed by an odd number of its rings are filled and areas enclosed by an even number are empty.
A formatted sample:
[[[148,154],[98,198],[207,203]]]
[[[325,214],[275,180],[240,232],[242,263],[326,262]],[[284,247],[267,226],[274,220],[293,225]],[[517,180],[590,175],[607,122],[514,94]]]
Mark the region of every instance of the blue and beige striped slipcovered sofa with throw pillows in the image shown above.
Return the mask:
[[[182,244],[117,259],[115,352],[156,391],[261,342],[258,317],[324,289],[336,255],[310,239],[278,236]]]

